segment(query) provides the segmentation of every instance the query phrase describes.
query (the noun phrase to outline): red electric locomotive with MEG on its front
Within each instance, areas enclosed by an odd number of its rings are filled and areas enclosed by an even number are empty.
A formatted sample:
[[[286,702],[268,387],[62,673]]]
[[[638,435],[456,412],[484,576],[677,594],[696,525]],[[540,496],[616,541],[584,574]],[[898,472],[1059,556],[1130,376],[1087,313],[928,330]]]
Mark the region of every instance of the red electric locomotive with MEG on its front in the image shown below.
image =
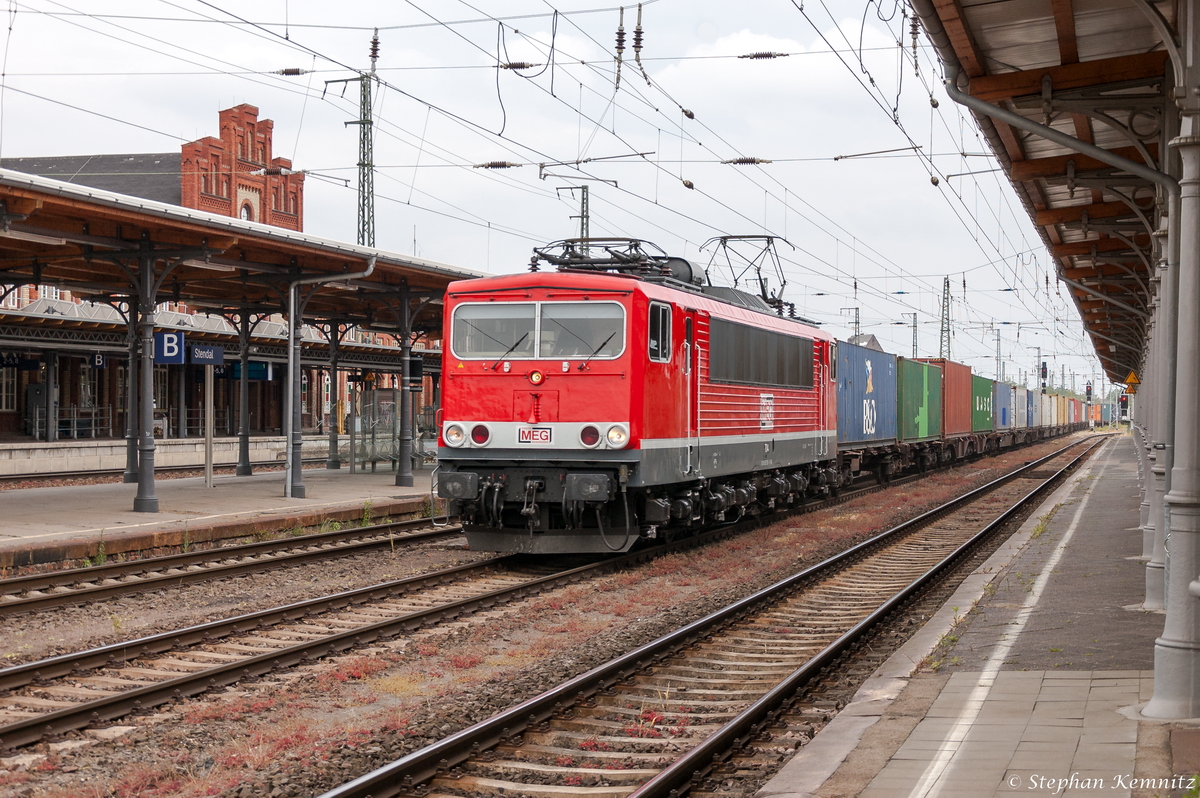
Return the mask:
[[[620,552],[840,486],[832,336],[641,241],[536,253],[446,292],[437,485],[472,548]]]

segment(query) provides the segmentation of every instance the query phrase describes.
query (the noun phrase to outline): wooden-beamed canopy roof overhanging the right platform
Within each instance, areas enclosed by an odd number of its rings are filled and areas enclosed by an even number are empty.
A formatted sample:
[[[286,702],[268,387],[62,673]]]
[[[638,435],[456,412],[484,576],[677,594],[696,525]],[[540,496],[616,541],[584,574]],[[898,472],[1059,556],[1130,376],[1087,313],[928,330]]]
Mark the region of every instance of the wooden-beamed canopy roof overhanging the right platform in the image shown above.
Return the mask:
[[[1156,172],[1177,131],[1174,2],[914,0],[956,88]],[[1139,366],[1165,203],[1144,176],[976,112],[1054,256],[1108,376]]]

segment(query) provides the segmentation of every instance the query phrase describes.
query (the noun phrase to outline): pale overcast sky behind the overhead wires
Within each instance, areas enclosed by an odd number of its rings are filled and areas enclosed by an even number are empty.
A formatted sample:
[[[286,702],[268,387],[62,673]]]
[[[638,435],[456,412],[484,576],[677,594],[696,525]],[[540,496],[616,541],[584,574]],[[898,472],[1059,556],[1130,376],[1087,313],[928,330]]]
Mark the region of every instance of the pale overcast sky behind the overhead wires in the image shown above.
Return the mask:
[[[914,66],[902,6],[654,0],[641,66],[629,6],[619,85],[618,20],[617,6],[586,0],[11,1],[0,155],[178,151],[250,103],[275,121],[275,155],[310,174],[305,232],[354,241],[358,127],[346,122],[359,86],[325,82],[370,68],[378,28],[380,248],[520,271],[534,246],[578,235],[571,187],[587,185],[593,236],[652,241],[718,283],[755,272],[742,262],[731,274],[701,248],[709,239],[785,239],[782,298],[839,337],[858,308],[863,332],[908,355],[917,313],[919,354],[936,356],[948,276],[955,360],[995,376],[998,330],[1009,379],[1037,347],[1056,384],[1063,366],[1080,391],[1099,376],[924,38]],[[739,58],[762,53],[786,56]],[[497,67],[515,62],[536,66]],[[286,68],[307,72],[274,74]],[[721,163],[734,158],[772,163]],[[475,168],[496,161],[521,166]]]

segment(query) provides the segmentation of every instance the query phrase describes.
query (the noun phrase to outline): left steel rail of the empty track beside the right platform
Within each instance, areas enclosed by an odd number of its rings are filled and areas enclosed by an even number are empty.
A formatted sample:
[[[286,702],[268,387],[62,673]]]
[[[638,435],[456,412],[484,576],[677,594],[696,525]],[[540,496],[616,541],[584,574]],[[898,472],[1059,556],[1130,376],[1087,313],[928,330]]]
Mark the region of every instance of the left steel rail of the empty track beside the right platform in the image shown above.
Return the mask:
[[[923,512],[914,518],[905,521],[892,529],[882,532],[869,540],[852,546],[851,548],[847,548],[846,551],[835,554],[822,563],[806,568],[798,574],[746,596],[745,599],[718,610],[704,618],[695,620],[632,652],[623,654],[604,665],[592,668],[586,673],[574,677],[557,688],[547,690],[538,696],[534,696],[533,698],[528,698],[510,709],[469,726],[468,728],[458,731],[443,740],[418,751],[413,751],[412,754],[408,754],[390,764],[322,793],[319,798],[389,798],[391,796],[398,796],[408,792],[415,785],[427,781],[438,774],[446,773],[450,768],[460,764],[470,756],[482,750],[493,748],[505,740],[518,737],[526,730],[535,727],[553,715],[566,710],[569,707],[587,700],[601,690],[611,688],[623,679],[631,677],[637,671],[661,662],[690,644],[692,640],[710,634],[714,628],[749,616],[755,611],[757,605],[774,601],[779,596],[791,592],[800,584],[811,581],[827,571],[834,571],[840,566],[865,556],[870,550],[880,547],[882,544],[888,542],[894,538],[899,538],[920,528],[925,523],[936,521],[943,515],[983,497],[996,487],[1019,479],[1028,472],[1036,470],[1045,462],[1061,456],[1067,450],[1082,443],[1087,442],[1081,440],[1072,443],[1070,445],[1046,455],[1045,457],[1032,461],[1021,468],[1006,474],[1004,476],[992,480],[991,482],[965,493],[961,497],[952,499],[938,508]],[[1076,458],[1076,461],[1078,460],[1079,458]],[[1045,482],[1043,482],[1043,485],[1040,485],[1034,492],[1043,490],[1050,481],[1052,481],[1052,479],[1045,480]],[[1026,497],[1019,503],[1019,505],[1024,505],[1027,500],[1028,498]],[[1010,514],[1013,510],[1009,510],[1008,512]],[[905,590],[907,590],[907,588]],[[895,606],[893,601],[889,601],[888,605]],[[863,623],[856,624],[856,629],[859,626],[863,626]],[[845,648],[845,646],[842,646],[842,648]],[[811,670],[806,671],[806,673],[811,673]],[[756,702],[755,706],[757,706],[757,703],[758,702]],[[712,754],[709,752],[708,756],[708,763],[710,764]],[[689,762],[691,762],[691,760],[689,760]],[[692,769],[695,769],[695,767]]]

